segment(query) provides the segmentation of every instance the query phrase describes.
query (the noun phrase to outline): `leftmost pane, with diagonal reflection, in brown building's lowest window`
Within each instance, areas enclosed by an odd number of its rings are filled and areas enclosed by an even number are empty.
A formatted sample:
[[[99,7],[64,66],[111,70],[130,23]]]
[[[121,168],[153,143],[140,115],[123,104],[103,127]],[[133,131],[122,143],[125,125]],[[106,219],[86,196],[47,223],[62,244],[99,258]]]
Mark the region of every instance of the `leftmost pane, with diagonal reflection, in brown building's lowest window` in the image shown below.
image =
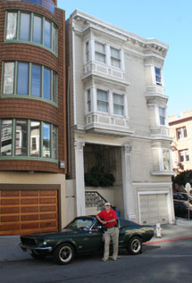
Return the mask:
[[[13,145],[13,128],[12,120],[3,120],[1,122],[1,156],[12,155],[12,145]]]

